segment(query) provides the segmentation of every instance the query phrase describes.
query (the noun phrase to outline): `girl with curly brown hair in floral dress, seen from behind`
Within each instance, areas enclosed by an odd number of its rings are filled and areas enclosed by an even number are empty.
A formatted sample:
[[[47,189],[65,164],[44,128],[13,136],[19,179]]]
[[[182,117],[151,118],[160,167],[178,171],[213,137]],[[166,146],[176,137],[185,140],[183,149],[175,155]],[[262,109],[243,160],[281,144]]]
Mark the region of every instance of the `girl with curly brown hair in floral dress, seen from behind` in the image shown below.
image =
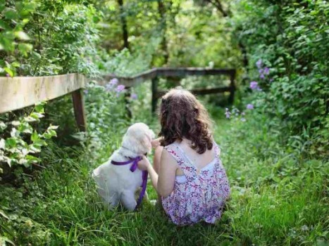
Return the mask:
[[[143,157],[139,169],[149,171],[173,223],[215,223],[230,186],[206,109],[189,91],[172,89],[162,97],[160,121],[161,146],[156,147],[154,167]]]

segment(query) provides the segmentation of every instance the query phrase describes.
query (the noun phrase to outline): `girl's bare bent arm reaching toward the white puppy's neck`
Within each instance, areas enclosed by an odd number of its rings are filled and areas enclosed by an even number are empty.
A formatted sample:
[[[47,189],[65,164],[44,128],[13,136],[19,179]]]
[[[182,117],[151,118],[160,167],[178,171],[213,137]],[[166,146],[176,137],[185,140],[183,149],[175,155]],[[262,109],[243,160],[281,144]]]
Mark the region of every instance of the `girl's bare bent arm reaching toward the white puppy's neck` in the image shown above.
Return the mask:
[[[143,157],[143,160],[138,162],[138,168],[149,171],[152,185],[159,195],[166,198],[173,191],[178,165],[167,150],[162,151],[160,163],[159,175],[156,174],[147,157]]]

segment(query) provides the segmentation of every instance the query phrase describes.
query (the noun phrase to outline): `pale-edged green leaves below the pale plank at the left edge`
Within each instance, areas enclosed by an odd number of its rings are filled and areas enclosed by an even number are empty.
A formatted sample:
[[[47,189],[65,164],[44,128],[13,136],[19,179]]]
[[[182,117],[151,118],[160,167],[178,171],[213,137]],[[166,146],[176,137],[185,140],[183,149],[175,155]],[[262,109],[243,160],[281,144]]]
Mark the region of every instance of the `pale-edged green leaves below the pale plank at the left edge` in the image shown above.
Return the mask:
[[[40,153],[42,147],[47,145],[46,140],[56,136],[57,129],[50,125],[42,134],[33,130],[32,123],[39,122],[44,117],[43,105],[36,105],[29,115],[19,119],[8,121],[8,117],[8,113],[0,117],[5,120],[0,120],[0,163],[29,167],[32,163],[40,162],[35,154]]]

